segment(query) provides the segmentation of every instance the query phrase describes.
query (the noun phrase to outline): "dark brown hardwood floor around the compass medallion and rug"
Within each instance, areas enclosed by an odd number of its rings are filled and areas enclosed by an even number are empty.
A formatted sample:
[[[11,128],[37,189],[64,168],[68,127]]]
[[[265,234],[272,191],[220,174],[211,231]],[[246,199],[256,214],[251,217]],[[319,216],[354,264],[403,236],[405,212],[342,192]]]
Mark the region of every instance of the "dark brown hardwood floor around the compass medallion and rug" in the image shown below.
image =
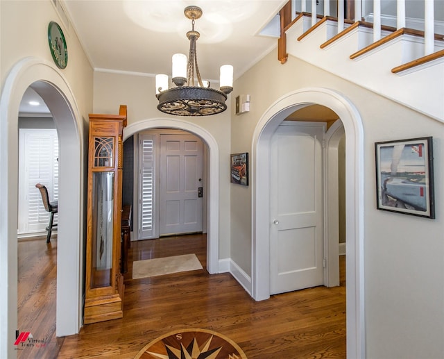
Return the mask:
[[[25,349],[21,358],[134,358],[148,342],[181,328],[207,328],[228,336],[249,359],[345,358],[345,257],[340,287],[315,287],[260,302],[230,274],[210,275],[205,269],[131,279],[133,260],[196,253],[205,267],[205,241],[203,235],[186,235],[132,242],[123,319],[89,324],[65,338],[53,335],[56,241],[40,249],[43,254],[35,255],[35,265],[32,255],[24,255],[33,249],[24,251],[28,243],[19,244],[19,325],[34,337],[49,338],[46,349]],[[48,262],[53,269],[45,269]],[[26,274],[24,267],[33,269]],[[24,279],[41,272],[35,281],[42,283],[42,292],[36,284],[25,293]]]

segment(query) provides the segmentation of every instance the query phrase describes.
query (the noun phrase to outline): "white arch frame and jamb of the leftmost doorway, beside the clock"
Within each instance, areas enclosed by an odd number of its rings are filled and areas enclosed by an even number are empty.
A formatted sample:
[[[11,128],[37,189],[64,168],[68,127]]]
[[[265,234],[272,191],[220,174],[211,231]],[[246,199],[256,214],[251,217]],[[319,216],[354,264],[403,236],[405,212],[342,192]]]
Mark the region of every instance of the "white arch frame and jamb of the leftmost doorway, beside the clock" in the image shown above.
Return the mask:
[[[58,336],[78,333],[83,285],[83,122],[74,94],[58,69],[39,58],[25,58],[12,68],[0,99],[0,356],[13,355],[17,329],[18,114],[29,86],[51,110],[60,142],[57,278]]]

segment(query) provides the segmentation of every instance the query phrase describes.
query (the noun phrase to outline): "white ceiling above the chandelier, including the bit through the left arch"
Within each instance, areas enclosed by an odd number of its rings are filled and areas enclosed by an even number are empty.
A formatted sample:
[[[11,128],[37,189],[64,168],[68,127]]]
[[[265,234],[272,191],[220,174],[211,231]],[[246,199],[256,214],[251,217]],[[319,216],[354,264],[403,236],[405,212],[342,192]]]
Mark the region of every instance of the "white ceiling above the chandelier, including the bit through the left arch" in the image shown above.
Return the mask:
[[[60,12],[60,3],[65,13]],[[189,53],[186,33],[191,20],[187,6],[199,6],[203,15],[196,20],[198,67],[203,79],[219,81],[219,67],[234,66],[234,78],[241,76],[278,41],[276,15],[287,0],[65,0],[59,3],[60,25],[74,28],[87,57],[96,70],[168,74],[173,53]],[[66,16],[67,15],[67,16]],[[262,33],[262,34],[261,34]],[[265,35],[268,34],[268,35]],[[69,51],[72,41],[65,31]],[[216,86],[215,86],[216,87]],[[49,113],[28,106],[25,94],[22,115]]]

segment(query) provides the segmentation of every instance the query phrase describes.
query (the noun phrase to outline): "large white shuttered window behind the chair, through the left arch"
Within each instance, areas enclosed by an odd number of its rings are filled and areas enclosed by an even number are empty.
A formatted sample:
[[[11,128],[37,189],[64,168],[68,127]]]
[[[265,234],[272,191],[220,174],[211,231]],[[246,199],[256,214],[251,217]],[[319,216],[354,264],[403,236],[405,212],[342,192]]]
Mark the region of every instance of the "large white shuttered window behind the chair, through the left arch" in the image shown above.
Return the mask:
[[[49,200],[58,200],[58,137],[56,129],[19,130],[19,234],[45,231],[49,212],[36,183],[45,185]],[[57,215],[54,216],[57,223]]]

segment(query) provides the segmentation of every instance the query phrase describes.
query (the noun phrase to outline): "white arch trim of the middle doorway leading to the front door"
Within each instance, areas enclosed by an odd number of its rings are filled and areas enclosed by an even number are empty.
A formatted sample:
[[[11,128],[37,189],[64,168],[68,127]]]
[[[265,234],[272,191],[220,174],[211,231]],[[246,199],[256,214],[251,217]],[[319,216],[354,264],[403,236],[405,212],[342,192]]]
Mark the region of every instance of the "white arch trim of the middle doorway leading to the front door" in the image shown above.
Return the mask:
[[[146,119],[123,129],[123,141],[139,131],[151,128],[178,128],[200,137],[208,147],[208,227],[207,271],[219,273],[219,148],[205,129],[180,119]]]

